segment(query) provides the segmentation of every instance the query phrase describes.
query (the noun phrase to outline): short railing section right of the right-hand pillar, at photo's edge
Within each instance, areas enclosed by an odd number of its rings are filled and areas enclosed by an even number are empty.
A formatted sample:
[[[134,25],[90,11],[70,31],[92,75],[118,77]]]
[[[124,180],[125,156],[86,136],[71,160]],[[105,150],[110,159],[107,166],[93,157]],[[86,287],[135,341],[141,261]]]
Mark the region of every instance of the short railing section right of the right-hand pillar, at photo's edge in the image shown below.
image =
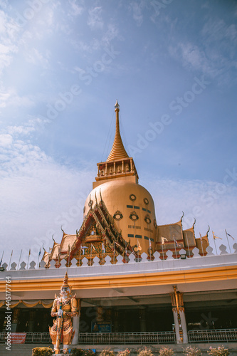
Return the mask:
[[[237,341],[237,329],[189,330],[189,342]]]

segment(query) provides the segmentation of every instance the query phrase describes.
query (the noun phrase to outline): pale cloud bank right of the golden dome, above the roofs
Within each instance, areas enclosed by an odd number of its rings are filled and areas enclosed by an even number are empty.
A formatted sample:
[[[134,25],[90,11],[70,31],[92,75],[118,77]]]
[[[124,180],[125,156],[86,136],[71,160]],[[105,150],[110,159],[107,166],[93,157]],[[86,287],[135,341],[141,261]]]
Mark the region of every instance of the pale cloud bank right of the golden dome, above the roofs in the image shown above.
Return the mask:
[[[234,216],[237,214],[236,185],[224,187],[218,182],[198,179],[149,179],[148,184],[156,206],[157,224],[179,221],[184,211],[184,229],[191,227],[196,218],[197,237],[199,231],[202,234],[206,232],[208,225],[219,234],[223,234],[224,229],[234,231]]]

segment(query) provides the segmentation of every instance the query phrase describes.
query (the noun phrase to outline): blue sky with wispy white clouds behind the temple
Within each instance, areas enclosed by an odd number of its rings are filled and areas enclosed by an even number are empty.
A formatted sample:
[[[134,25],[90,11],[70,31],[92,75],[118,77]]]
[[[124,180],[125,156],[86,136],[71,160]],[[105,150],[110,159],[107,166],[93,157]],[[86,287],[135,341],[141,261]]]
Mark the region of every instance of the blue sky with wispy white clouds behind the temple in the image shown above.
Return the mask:
[[[1,0],[0,9],[4,260],[48,249],[61,225],[80,228],[116,99],[158,224],[184,211],[196,237],[208,225],[217,245],[225,229],[236,236],[236,1]]]

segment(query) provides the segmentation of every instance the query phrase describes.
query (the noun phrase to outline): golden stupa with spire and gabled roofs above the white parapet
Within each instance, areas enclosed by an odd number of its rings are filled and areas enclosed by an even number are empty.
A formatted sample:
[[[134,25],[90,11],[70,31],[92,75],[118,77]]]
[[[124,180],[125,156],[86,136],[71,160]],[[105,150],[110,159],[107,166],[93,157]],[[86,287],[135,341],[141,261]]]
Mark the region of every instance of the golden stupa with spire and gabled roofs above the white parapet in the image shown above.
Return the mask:
[[[51,260],[60,266],[63,258],[68,264],[76,258],[79,266],[84,256],[89,264],[95,256],[104,263],[107,255],[112,263],[116,263],[118,255],[127,262],[131,253],[140,258],[144,252],[147,259],[153,259],[155,251],[165,259],[167,250],[173,252],[174,258],[180,258],[179,251],[183,249],[187,257],[192,257],[194,247],[199,248],[200,255],[206,255],[209,231],[196,239],[194,225],[182,229],[182,217],[174,224],[157,226],[152,196],[138,184],[135,162],[122,143],[119,112],[116,101],[115,139],[107,160],[97,164],[98,174],[83,209],[83,224],[74,235],[63,231],[60,244],[54,242],[51,252],[45,251],[46,266]]]

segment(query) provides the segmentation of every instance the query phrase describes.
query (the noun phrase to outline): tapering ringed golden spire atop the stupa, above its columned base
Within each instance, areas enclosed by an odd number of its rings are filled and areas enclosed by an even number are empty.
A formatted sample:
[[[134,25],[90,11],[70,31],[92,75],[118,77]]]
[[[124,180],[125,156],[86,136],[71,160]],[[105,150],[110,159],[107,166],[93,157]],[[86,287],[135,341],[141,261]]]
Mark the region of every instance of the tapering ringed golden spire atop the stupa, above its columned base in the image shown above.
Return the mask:
[[[115,159],[128,158],[127,152],[125,151],[125,147],[122,143],[122,138],[120,136],[120,121],[119,121],[119,112],[120,105],[118,105],[117,100],[115,103],[115,112],[116,112],[116,130],[115,130],[115,140],[112,144],[112,149],[110,151],[110,155],[107,157],[107,162],[115,161]]]

